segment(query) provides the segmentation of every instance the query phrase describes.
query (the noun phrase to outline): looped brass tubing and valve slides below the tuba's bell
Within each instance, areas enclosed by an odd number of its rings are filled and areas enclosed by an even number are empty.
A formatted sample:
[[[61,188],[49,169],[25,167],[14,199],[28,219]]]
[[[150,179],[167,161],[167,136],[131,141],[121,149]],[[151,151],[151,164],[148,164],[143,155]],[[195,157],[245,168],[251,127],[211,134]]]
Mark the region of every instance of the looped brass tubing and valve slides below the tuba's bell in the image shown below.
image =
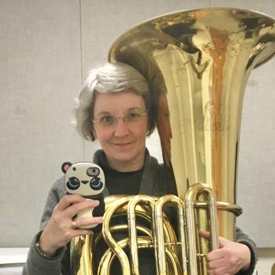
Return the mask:
[[[152,197],[148,195],[124,196],[117,195],[108,198],[105,202],[104,223],[100,235],[80,236],[74,239],[71,245],[72,269],[77,270],[75,274],[94,274],[92,271],[92,253],[91,246],[96,250],[98,239],[103,237],[109,245],[109,249],[104,253],[98,267],[98,274],[111,274],[111,264],[115,256],[118,257],[122,267],[122,274],[139,275],[138,248],[154,248],[155,265],[157,274],[193,274],[197,275],[197,267],[202,268],[202,264],[197,261],[196,251],[196,230],[194,210],[196,208],[195,195],[197,192],[207,192],[211,217],[212,249],[219,246],[217,235],[217,203],[212,190],[206,184],[194,184],[186,193],[186,199],[183,201],[175,195],[165,195],[164,197]],[[113,198],[116,198],[115,200]],[[177,208],[177,225],[179,237],[175,235],[173,225],[170,224],[164,214],[164,206],[175,206]],[[137,207],[140,207],[136,210]],[[125,209],[126,208],[126,209]],[[151,210],[148,211],[148,208]],[[127,212],[128,225],[118,225],[117,228],[110,226],[111,219],[115,214],[125,214]],[[138,213],[138,214],[137,214]],[[151,213],[151,214],[150,214]],[[136,215],[150,221],[151,230],[136,225]],[[187,227],[186,225],[187,221]],[[140,236],[138,230],[146,234]],[[129,238],[115,241],[112,236],[113,231],[128,230]],[[188,245],[186,244],[188,240]],[[77,244],[77,245],[76,245]],[[94,244],[94,245],[93,245]],[[131,263],[124,252],[126,247],[130,248]],[[191,249],[192,248],[192,249]],[[168,260],[168,265],[166,263]],[[80,267],[77,263],[82,262]],[[189,262],[189,264],[188,264]]]

